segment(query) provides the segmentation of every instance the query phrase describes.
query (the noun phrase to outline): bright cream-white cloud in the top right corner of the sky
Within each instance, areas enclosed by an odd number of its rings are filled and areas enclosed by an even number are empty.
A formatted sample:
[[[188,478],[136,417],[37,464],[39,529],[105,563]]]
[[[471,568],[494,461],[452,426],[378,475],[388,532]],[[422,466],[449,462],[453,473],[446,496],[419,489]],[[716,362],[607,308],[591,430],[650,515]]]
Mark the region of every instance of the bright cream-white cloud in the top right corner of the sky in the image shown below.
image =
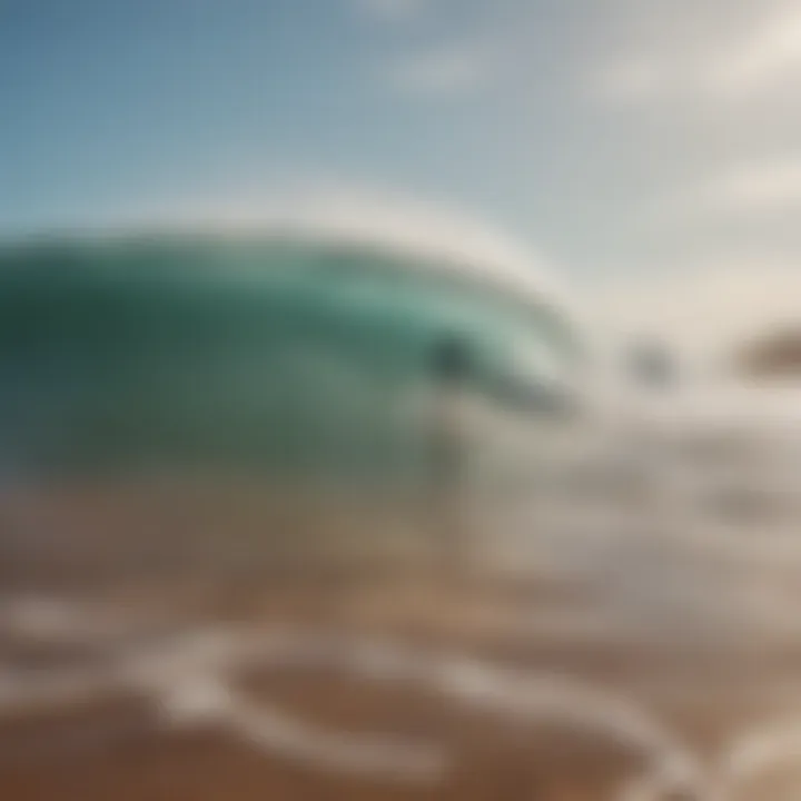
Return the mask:
[[[754,3],[738,24],[728,2],[714,8],[694,16],[679,7],[678,24],[632,42],[629,57],[592,71],[592,92],[626,101],[746,101],[794,89],[801,80],[801,0]]]

